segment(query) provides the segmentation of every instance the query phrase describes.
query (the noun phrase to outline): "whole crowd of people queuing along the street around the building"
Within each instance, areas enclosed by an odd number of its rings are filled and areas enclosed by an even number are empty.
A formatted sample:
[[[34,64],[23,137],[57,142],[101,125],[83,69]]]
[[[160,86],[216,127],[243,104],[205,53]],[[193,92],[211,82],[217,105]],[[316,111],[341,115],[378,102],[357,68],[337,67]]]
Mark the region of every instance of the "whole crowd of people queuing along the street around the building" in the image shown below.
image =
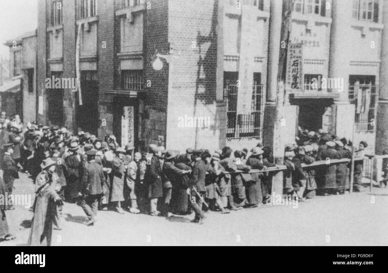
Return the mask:
[[[156,144],[144,151],[130,144],[121,147],[112,134],[99,139],[88,132],[71,134],[65,127],[36,123],[24,127],[18,116],[12,121],[2,117],[0,124],[0,190],[12,194],[19,172],[35,181],[29,245],[50,245],[52,229],[62,229],[64,202],[78,203],[88,217],[88,226],[95,224],[98,210],[165,217],[194,212],[192,222],[202,224],[209,210],[227,214],[258,207],[271,193],[270,170],[280,167],[272,148],[262,142],[249,152],[224,147],[214,152],[189,148],[179,154]],[[362,141],[355,150],[358,157],[363,157],[366,147]],[[345,193],[349,189],[348,162],[302,164],[351,158],[352,149],[345,138],[300,128],[296,141],[285,147],[283,194],[304,201],[316,191],[321,195]],[[355,191],[361,184],[362,166],[362,160],[355,163]],[[0,208],[0,238],[13,239],[4,211],[14,207]]]

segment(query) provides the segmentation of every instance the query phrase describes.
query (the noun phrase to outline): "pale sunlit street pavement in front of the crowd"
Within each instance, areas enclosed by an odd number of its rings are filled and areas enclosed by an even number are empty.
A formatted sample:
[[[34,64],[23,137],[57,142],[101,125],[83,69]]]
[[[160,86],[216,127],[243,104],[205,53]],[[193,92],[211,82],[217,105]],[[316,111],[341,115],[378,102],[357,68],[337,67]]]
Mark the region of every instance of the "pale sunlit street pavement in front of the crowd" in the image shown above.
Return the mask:
[[[31,194],[34,184],[25,174],[15,181],[15,194]],[[317,196],[292,205],[262,205],[230,214],[209,212],[204,224],[191,216],[159,217],[99,211],[94,226],[85,213],[65,203],[62,230],[53,231],[54,246],[62,245],[388,245],[388,188],[360,193]],[[0,246],[26,245],[33,212],[24,206],[7,211],[16,240]]]

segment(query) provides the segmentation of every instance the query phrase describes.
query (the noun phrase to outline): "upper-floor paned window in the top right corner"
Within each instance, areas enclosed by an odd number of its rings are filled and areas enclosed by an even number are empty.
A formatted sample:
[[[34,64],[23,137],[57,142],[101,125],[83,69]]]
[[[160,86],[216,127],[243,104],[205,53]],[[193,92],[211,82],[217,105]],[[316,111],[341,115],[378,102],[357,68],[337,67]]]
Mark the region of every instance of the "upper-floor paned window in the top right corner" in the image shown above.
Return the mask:
[[[352,17],[360,21],[379,22],[379,0],[353,0]]]

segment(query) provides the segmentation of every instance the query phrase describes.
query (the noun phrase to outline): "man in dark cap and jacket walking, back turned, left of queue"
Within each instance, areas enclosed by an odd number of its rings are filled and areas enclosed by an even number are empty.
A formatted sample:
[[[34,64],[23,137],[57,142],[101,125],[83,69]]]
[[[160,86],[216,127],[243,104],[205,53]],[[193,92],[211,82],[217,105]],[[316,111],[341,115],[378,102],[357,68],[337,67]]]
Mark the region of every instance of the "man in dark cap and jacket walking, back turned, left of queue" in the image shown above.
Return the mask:
[[[88,164],[85,167],[82,183],[81,207],[88,216],[87,226],[94,225],[97,216],[98,203],[102,194],[102,184],[105,176],[102,165],[95,161],[97,151],[88,150],[86,152]]]

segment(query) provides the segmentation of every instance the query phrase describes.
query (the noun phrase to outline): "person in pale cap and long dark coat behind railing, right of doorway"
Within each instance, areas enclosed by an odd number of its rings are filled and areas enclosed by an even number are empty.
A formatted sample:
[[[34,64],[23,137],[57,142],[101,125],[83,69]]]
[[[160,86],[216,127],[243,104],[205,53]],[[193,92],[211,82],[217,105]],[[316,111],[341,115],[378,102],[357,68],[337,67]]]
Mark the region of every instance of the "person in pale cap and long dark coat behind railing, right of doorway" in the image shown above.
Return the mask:
[[[326,162],[329,162],[328,160],[333,159],[340,159],[340,155],[337,150],[335,150],[336,143],[334,141],[327,141],[326,142],[326,150],[322,152],[322,160],[326,160]],[[336,173],[337,173],[337,165],[336,164],[329,164],[325,165],[323,167],[324,169],[324,188],[325,188],[325,195],[331,195],[336,194],[337,192],[337,180],[336,180]]]

